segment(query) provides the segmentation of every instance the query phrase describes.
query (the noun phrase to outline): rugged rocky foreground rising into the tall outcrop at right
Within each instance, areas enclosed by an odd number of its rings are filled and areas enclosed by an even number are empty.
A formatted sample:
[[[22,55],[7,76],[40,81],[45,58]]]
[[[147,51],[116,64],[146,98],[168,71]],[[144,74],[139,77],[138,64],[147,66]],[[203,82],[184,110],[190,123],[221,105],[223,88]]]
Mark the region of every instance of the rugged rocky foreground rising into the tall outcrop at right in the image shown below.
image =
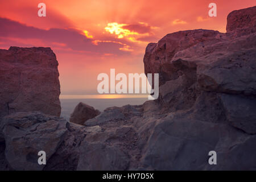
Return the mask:
[[[144,55],[145,73],[159,73],[158,100],[102,113],[80,104],[80,125],[13,112],[0,123],[0,169],[255,170],[255,42],[256,6],[230,13],[225,34],[168,34]]]

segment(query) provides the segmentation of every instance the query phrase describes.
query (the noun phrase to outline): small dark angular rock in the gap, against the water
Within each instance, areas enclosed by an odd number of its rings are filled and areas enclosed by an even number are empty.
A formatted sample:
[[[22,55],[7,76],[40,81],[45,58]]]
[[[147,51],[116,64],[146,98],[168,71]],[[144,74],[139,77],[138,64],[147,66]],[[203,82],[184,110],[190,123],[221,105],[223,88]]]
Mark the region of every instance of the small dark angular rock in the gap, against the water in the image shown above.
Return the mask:
[[[88,119],[92,119],[100,114],[99,110],[95,110],[92,106],[80,102],[74,109],[69,119],[72,123],[83,124]]]

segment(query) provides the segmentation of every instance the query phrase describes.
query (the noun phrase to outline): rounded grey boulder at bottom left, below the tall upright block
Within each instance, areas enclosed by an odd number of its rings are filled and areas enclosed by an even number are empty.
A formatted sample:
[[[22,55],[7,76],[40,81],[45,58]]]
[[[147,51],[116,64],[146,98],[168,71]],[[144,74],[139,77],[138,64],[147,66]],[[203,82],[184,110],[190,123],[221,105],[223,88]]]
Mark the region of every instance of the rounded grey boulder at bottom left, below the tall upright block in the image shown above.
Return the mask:
[[[39,112],[13,113],[2,119],[5,156],[11,169],[42,170],[38,152],[45,151],[47,159],[55,153],[67,134],[67,121]]]

